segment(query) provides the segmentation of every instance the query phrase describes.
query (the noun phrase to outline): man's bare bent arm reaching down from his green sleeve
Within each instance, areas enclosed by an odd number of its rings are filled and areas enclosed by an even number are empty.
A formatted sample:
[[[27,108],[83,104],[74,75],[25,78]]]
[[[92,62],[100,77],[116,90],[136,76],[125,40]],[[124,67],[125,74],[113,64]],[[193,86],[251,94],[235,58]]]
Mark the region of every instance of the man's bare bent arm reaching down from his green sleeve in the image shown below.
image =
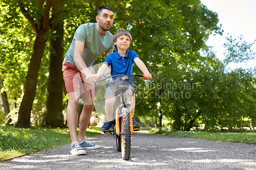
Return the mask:
[[[93,73],[89,70],[86,63],[84,63],[82,59],[83,48],[84,42],[75,40],[74,62],[77,68],[81,71],[81,73],[86,76],[86,81],[88,81],[89,83],[93,83],[95,79]]]

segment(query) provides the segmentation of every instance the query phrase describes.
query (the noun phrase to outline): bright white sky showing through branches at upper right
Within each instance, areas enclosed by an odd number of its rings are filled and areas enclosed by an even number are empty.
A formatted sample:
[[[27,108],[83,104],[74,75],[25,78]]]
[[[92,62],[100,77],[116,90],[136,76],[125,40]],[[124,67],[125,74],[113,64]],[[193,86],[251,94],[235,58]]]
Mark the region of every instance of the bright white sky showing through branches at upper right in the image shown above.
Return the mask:
[[[222,46],[226,41],[227,34],[233,38],[242,35],[243,41],[252,43],[256,40],[256,0],[201,0],[211,11],[218,14],[219,23],[224,30],[223,36],[213,34],[209,36],[207,45],[213,46],[216,56],[223,60],[225,48]],[[252,46],[256,52],[256,44]],[[243,67],[254,68],[256,59],[248,63],[229,64],[230,68]]]

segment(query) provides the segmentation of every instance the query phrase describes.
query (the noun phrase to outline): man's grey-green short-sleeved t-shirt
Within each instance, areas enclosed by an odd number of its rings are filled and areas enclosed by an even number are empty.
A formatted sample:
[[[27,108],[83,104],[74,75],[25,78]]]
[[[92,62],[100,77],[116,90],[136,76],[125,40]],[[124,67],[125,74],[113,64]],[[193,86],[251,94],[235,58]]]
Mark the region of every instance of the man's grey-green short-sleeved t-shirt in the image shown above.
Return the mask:
[[[72,63],[75,67],[77,67],[74,62],[75,40],[84,42],[82,59],[87,67],[92,66],[101,54],[105,52],[113,53],[114,51],[113,35],[109,31],[105,35],[101,35],[97,31],[96,23],[84,23],[77,28],[64,59],[64,61]]]

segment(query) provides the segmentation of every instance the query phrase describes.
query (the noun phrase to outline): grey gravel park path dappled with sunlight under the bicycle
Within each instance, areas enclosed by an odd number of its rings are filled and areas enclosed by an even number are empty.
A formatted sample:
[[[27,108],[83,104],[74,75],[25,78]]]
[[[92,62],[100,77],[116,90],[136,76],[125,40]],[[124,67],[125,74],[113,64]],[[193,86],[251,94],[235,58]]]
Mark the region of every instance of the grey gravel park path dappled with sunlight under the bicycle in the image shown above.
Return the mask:
[[[0,163],[0,169],[256,169],[256,146],[169,137],[139,131],[132,136],[131,159],[124,161],[110,134],[87,137],[97,150],[70,155],[70,144]]]

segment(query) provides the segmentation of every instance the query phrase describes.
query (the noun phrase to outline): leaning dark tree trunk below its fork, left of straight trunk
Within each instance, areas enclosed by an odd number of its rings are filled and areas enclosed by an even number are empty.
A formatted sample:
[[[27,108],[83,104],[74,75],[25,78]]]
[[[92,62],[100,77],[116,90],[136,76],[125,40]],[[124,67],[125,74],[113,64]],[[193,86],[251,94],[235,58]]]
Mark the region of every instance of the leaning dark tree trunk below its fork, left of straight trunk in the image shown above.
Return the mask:
[[[33,54],[26,76],[25,93],[18,111],[18,128],[30,128],[30,113],[36,93],[38,70],[47,41],[47,38],[44,37],[45,34],[46,31],[39,31],[33,45]]]

